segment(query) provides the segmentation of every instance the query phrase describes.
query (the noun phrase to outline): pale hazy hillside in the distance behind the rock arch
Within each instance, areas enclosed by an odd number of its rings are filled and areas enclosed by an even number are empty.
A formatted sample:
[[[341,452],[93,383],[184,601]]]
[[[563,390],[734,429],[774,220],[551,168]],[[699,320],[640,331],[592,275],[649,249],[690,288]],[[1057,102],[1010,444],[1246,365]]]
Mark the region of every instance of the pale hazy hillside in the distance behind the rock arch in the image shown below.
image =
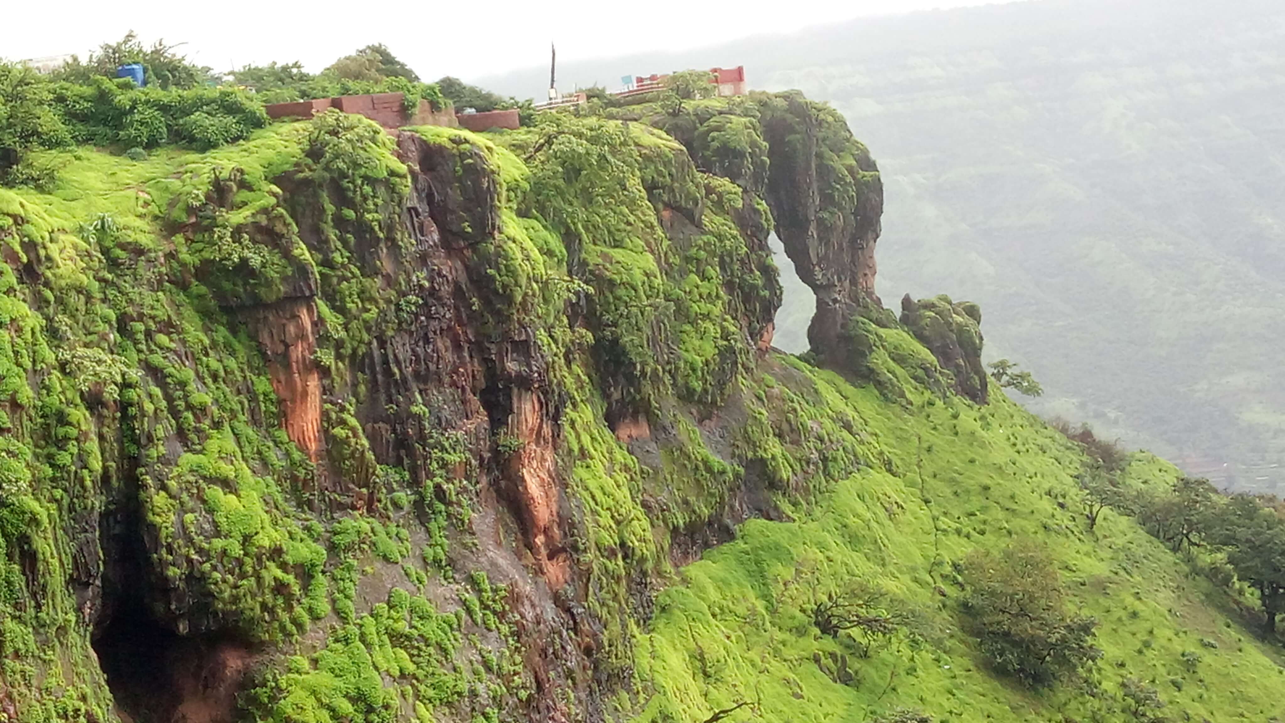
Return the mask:
[[[564,64],[745,64],[843,111],[887,187],[880,293],[982,304],[1042,413],[1285,488],[1285,4],[1041,1]],[[483,82],[531,95],[546,69]],[[802,342],[790,295],[777,342]]]

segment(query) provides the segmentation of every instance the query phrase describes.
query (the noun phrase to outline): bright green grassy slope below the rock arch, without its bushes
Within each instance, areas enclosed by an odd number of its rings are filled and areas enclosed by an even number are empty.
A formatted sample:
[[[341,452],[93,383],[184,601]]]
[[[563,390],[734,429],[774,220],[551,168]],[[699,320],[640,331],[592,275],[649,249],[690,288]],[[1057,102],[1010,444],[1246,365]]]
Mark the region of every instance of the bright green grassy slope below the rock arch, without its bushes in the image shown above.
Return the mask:
[[[1169,720],[1285,715],[1285,672],[1217,611],[1226,593],[1131,518],[1108,511],[1087,531],[1079,453],[1009,399],[977,408],[920,396],[903,408],[785,356],[763,365],[765,382],[808,396],[819,416],[849,407],[893,471],[856,471],[794,521],[747,522],[684,569],[637,641],[637,678],[650,688],[632,701],[637,720],[702,722],[739,702],[752,705],[726,720],[866,720],[896,708],[942,723],[1133,720],[1119,693],[1127,677],[1156,688]],[[1159,482],[1176,471],[1139,455],[1133,475]],[[959,630],[952,563],[1022,535],[1047,543],[1073,605],[1100,623],[1096,697],[1000,679]],[[911,612],[916,636],[869,659],[848,636],[821,636],[804,610],[808,588],[849,579]]]

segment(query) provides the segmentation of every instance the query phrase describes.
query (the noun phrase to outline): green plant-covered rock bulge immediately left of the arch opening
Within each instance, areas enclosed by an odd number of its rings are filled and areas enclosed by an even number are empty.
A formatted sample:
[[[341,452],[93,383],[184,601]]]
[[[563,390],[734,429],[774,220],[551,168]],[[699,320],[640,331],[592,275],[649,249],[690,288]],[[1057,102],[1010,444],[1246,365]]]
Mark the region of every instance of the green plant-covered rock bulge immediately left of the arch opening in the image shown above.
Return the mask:
[[[780,293],[762,241],[735,220],[741,189],[699,174],[663,135],[601,118],[550,114],[505,143],[535,153],[524,202],[583,268],[595,356],[627,410],[655,414],[672,390],[725,398]]]

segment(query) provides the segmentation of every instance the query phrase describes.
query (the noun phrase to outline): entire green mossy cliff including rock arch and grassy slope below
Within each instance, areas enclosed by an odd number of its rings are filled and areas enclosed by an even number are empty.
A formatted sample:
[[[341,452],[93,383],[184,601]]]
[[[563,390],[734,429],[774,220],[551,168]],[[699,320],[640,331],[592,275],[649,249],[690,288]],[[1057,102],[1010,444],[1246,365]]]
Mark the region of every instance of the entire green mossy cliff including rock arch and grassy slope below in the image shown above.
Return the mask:
[[[1232,596],[1085,527],[1083,453],[988,399],[975,306],[874,297],[833,109],[662,105],[329,112],[0,190],[0,720],[1131,720],[1127,679],[1285,714]],[[1092,684],[960,632],[957,563],[1023,536],[1101,623]],[[810,624],[852,580],[912,634]]]

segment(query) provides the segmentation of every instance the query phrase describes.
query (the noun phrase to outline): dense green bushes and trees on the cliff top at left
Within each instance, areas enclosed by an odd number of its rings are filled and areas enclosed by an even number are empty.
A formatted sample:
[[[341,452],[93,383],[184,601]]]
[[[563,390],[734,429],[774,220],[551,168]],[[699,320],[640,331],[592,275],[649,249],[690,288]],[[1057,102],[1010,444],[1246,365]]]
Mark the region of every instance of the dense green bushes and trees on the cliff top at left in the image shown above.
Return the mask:
[[[143,66],[145,87],[116,77],[130,63]],[[0,59],[0,184],[50,185],[57,162],[31,157],[40,149],[93,144],[140,156],[162,144],[217,148],[263,127],[266,103],[384,91],[405,94],[407,104],[448,103],[383,45],[339,58],[316,76],[298,63],[271,63],[230,77],[224,84],[173,46],[146,48],[132,32],[49,76]]]

